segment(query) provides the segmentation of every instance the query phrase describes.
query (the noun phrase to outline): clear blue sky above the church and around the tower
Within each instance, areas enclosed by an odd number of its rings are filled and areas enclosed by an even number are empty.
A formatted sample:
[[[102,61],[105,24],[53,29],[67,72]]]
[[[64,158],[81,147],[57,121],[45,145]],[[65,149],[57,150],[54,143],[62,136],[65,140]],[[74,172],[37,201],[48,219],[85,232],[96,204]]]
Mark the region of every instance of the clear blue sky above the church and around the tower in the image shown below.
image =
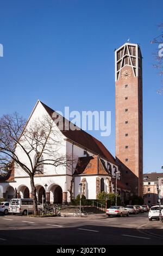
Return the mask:
[[[53,109],[111,111],[111,135],[90,132],[115,156],[114,49],[130,38],[143,56],[143,172],[163,166],[163,95],[150,41],[161,1],[0,0],[0,115],[28,118],[37,99]]]

